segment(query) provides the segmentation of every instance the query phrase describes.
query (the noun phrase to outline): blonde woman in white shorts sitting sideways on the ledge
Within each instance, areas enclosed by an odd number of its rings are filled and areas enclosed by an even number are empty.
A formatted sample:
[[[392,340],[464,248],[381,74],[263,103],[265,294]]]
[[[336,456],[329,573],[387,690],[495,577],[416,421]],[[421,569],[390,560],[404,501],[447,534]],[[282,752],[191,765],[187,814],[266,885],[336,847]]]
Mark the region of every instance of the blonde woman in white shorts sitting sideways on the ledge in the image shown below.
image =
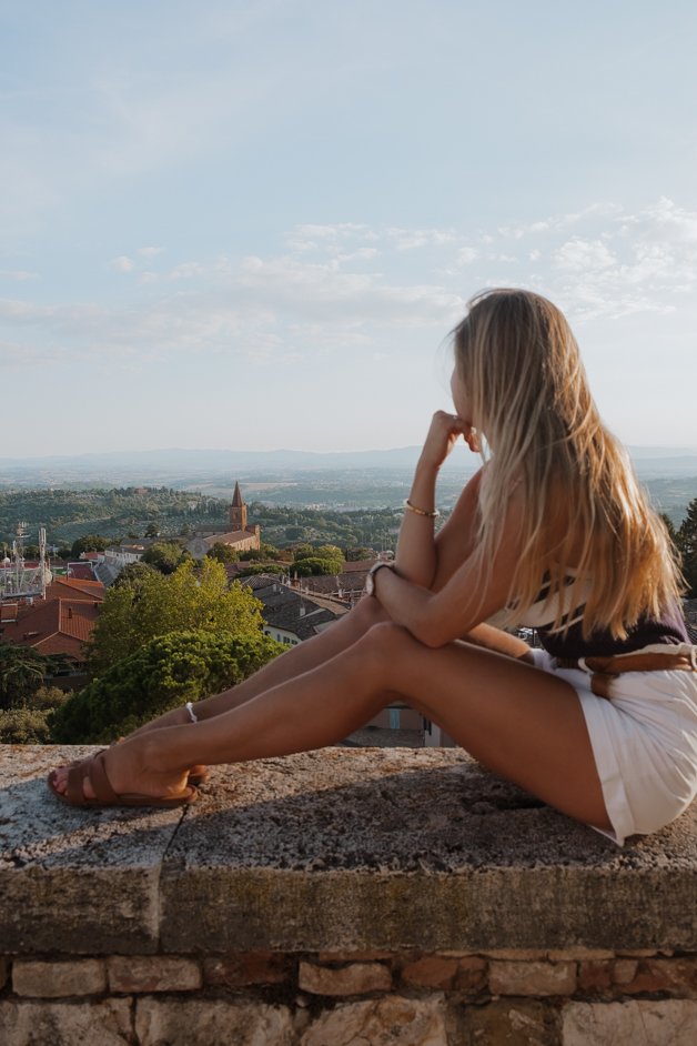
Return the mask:
[[[400,696],[497,774],[622,845],[697,792],[697,648],[665,527],[603,426],[563,314],[522,290],[454,331],[394,565],[246,682],[54,771],[77,806],[179,805],[194,764],[335,744]],[[485,463],[435,534],[459,439]],[[538,628],[542,651],[494,625]]]

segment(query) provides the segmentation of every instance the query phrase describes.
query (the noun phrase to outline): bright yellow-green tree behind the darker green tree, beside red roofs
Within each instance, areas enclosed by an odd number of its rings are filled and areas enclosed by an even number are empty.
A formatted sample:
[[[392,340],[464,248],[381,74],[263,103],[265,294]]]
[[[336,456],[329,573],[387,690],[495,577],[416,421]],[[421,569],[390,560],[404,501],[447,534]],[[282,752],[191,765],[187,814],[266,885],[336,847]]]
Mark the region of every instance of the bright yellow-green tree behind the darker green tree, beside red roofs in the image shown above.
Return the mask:
[[[90,668],[99,675],[150,640],[192,628],[255,635],[261,603],[242,585],[229,587],[224,566],[209,559],[200,570],[189,560],[173,574],[153,572],[137,584],[113,585],[92,631]]]

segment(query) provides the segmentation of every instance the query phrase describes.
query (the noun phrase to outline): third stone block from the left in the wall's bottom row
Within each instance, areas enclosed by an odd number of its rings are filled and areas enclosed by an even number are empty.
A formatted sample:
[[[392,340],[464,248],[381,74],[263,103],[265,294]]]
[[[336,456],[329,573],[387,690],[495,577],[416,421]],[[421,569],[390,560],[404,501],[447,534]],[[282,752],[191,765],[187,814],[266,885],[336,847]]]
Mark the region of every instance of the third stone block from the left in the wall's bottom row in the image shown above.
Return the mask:
[[[447,1046],[442,999],[400,996],[340,1004],[321,1014],[300,1046]]]

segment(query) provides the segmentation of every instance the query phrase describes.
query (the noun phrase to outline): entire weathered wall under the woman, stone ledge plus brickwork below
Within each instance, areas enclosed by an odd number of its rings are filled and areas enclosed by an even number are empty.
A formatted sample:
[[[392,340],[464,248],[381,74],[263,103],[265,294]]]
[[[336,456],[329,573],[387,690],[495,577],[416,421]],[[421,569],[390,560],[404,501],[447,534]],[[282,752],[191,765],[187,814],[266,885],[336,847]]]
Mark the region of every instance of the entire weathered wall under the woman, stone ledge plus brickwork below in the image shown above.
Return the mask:
[[[0,748],[3,1046],[694,1046],[697,816],[620,849],[453,750],[80,812]]]

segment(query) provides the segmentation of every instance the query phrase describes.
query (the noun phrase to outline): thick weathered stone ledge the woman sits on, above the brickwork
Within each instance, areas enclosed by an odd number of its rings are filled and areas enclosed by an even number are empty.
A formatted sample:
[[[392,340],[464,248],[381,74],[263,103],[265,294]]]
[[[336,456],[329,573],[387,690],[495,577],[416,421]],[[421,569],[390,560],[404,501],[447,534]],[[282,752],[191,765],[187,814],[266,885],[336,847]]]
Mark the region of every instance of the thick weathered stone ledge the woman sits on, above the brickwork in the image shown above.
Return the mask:
[[[697,804],[619,849],[458,750],[214,768],[183,811],[74,811],[0,746],[16,954],[676,949],[697,941]]]

